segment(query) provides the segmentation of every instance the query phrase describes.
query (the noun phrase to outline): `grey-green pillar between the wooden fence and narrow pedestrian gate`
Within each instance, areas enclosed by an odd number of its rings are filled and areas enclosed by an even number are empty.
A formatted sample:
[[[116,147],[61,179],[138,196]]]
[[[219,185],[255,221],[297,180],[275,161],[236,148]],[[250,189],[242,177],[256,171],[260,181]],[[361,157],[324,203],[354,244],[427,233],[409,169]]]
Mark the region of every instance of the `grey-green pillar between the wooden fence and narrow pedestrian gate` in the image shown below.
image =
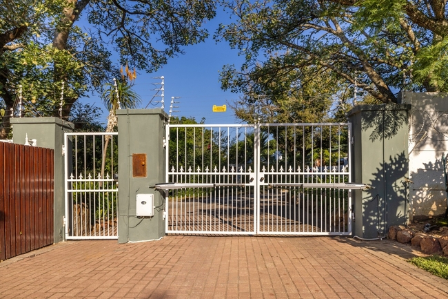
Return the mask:
[[[12,118],[13,141],[25,144],[28,139],[36,139],[37,146],[54,149],[54,243],[63,240],[64,202],[64,157],[62,145],[64,133],[72,132],[74,124],[65,122],[57,117],[22,117]]]

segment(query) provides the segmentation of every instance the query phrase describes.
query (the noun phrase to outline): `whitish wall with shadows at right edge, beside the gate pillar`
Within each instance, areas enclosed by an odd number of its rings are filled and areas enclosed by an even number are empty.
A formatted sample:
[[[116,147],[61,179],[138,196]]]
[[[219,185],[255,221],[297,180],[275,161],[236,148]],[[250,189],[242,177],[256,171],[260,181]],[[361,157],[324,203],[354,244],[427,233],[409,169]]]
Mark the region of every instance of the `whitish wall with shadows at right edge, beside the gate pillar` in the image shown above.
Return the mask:
[[[447,193],[442,154],[448,154],[448,97],[403,93],[409,111],[409,216],[420,220],[445,214]]]

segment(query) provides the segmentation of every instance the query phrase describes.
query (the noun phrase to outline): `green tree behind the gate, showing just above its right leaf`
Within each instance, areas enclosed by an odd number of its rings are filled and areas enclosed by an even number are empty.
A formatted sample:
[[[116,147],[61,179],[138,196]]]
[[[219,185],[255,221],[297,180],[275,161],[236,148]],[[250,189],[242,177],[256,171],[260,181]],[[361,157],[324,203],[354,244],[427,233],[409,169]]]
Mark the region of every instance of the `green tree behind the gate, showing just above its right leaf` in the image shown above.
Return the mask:
[[[277,73],[281,79],[276,80],[261,75],[252,81],[252,74],[235,75],[232,72],[225,74],[230,77],[221,79],[231,88],[241,87],[238,91],[243,96],[230,103],[230,107],[236,117],[250,124],[345,122],[342,111],[352,107],[348,100],[353,95],[347,84],[335,79],[328,71],[318,73],[314,67],[297,71],[301,72],[300,81],[297,72],[291,70]],[[334,82],[337,85],[333,87]]]

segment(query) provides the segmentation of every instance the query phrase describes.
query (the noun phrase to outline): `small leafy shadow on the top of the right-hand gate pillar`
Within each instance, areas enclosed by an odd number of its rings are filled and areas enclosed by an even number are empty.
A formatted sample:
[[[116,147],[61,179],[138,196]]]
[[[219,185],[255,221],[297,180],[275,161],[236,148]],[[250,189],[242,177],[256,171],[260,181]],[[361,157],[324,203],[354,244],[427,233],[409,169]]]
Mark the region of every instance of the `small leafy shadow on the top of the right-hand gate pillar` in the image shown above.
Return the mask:
[[[363,131],[373,128],[369,136],[371,142],[376,141],[376,139],[391,139],[400,128],[407,126],[406,113],[397,113],[397,110],[394,110],[396,105],[385,104],[380,106],[379,110],[365,110],[363,112],[361,128]]]

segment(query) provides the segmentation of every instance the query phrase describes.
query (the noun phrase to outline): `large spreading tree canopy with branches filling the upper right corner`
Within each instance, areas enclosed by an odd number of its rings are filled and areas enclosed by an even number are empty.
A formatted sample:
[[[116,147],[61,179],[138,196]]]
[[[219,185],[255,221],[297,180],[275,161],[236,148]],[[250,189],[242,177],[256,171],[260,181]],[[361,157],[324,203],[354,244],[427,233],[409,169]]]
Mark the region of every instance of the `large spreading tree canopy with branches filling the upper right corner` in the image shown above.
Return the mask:
[[[227,1],[238,18],[221,25],[224,39],[245,55],[241,70],[227,66],[223,88],[241,91],[285,76],[302,88],[306,72],[334,75],[383,103],[400,90],[446,91],[445,0]],[[241,79],[245,78],[245,79]],[[306,81],[306,80],[305,80]]]

